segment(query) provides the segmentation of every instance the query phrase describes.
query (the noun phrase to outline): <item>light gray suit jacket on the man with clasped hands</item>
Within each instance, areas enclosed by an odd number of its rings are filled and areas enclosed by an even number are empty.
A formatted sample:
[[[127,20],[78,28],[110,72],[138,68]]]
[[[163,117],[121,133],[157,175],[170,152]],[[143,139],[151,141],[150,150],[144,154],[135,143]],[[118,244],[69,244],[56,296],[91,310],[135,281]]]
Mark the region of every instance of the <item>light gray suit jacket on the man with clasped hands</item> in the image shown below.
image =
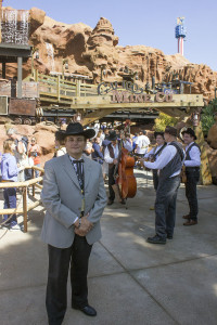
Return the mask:
[[[88,244],[101,238],[100,218],[106,205],[106,193],[100,164],[82,156],[85,162],[85,214],[89,212],[92,230]],[[74,222],[80,216],[82,195],[68,155],[46,162],[41,199],[47,209],[41,239],[58,248],[67,248],[74,240]]]

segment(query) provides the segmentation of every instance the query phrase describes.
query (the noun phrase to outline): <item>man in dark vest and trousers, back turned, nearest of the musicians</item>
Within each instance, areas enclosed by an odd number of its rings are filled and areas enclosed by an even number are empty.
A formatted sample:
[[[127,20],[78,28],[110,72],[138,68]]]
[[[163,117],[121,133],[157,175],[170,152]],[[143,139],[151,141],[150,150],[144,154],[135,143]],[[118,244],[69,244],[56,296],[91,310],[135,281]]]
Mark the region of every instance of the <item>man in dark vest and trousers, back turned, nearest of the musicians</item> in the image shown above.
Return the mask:
[[[173,239],[176,221],[176,200],[180,185],[180,171],[184,152],[177,142],[177,129],[166,127],[164,132],[167,146],[154,161],[143,161],[150,169],[159,169],[158,186],[155,200],[155,236],[149,237],[148,243],[166,244]]]

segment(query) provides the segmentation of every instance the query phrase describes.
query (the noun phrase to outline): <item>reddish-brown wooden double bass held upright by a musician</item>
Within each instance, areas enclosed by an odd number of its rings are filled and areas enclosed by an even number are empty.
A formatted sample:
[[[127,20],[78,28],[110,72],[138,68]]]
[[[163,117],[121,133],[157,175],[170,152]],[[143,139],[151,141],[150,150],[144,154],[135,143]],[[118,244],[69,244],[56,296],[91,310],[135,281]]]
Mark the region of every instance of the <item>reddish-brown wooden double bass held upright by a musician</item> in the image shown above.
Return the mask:
[[[137,193],[137,181],[133,176],[135,158],[129,155],[129,152],[123,146],[123,140],[119,147],[118,164],[114,171],[116,179],[116,188],[113,187],[119,202],[126,198],[135,197]],[[118,172],[117,172],[118,171]],[[118,193],[117,193],[118,187]],[[118,195],[119,194],[119,195]]]

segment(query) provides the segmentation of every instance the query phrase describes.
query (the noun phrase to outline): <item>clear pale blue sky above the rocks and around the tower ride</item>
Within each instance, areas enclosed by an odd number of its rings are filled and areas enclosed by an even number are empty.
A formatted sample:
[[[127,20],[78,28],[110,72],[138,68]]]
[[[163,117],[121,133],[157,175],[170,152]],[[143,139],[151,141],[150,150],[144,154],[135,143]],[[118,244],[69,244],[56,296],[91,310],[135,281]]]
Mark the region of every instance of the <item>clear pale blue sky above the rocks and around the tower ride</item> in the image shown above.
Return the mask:
[[[55,21],[85,23],[94,28],[100,17],[111,21],[119,46],[143,44],[177,53],[175,26],[186,17],[184,56],[217,70],[217,0],[3,0],[15,9],[40,8]]]

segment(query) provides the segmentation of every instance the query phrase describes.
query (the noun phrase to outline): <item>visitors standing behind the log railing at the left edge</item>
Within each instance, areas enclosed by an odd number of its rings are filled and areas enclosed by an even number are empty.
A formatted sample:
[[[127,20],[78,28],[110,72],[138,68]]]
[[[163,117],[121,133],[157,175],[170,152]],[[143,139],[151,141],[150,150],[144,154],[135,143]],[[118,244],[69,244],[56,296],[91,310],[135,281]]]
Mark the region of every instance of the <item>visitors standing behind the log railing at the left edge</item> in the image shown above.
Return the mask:
[[[41,148],[36,138],[31,136],[29,141],[26,135],[20,134],[13,128],[7,131],[7,135],[1,157],[1,182],[24,182],[31,179],[31,170],[26,167],[40,167]],[[35,171],[35,176],[39,177],[38,170]],[[16,208],[16,187],[4,188],[4,209]],[[1,226],[12,231],[23,230],[17,223],[16,213],[4,214]]]

